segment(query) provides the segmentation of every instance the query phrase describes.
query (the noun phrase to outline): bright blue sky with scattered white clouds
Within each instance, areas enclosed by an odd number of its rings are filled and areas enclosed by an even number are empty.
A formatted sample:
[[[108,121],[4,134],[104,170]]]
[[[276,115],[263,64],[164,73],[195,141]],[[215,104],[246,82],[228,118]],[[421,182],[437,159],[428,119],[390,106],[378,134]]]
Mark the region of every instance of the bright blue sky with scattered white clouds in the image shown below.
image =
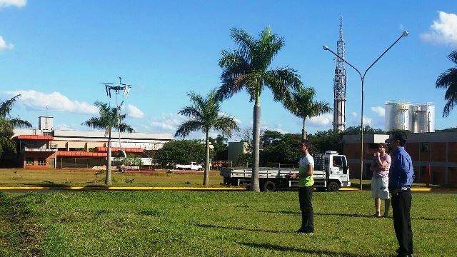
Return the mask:
[[[323,4],[325,3],[325,4]],[[438,12],[438,11],[441,11]],[[441,117],[444,91],[437,76],[453,66],[457,49],[455,1],[34,1],[0,0],[0,99],[23,97],[13,116],[37,125],[37,116],[56,118],[56,128],[83,129],[107,101],[101,82],[118,76],[132,84],[126,100],[137,131],[174,133],[189,104],[186,93],[206,94],[219,86],[222,49],[233,49],[230,29],[253,35],[266,26],[286,44],[272,66],[298,70],[318,100],[333,103],[334,61],[343,15],[346,57],[364,69],[401,34],[402,39],[366,76],[366,119],[383,128],[386,100],[436,104],[438,129],[457,126],[457,110]],[[433,22],[436,23],[435,26]],[[348,126],[359,122],[360,81],[348,71]],[[48,111],[46,111],[48,106]],[[223,111],[251,126],[246,93],[224,101]],[[299,132],[300,121],[261,96],[265,129]],[[331,115],[308,122],[308,131],[331,128]],[[198,134],[194,135],[198,136]]]

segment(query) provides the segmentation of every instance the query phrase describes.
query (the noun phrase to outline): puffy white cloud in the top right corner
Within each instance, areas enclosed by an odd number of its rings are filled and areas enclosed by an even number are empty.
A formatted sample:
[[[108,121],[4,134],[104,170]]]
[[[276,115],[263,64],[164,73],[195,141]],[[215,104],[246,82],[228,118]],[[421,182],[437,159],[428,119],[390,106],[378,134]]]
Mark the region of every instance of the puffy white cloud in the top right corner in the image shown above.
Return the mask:
[[[438,11],[438,20],[433,21],[430,31],[421,34],[421,39],[436,44],[457,46],[457,15]]]

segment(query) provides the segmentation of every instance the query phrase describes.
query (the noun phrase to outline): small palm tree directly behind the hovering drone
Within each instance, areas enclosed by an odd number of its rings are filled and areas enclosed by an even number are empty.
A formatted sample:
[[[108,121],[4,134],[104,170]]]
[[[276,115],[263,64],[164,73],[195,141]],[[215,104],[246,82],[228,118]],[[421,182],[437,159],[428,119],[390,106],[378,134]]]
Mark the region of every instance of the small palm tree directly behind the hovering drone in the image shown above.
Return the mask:
[[[111,132],[116,129],[118,132],[132,133],[135,130],[128,124],[125,124],[126,114],[120,114],[119,107],[111,107],[109,104],[96,101],[95,106],[99,107],[99,117],[92,117],[88,121],[84,121],[81,125],[89,126],[92,129],[104,129],[105,136],[108,136],[107,146],[107,161],[105,184],[111,186]]]

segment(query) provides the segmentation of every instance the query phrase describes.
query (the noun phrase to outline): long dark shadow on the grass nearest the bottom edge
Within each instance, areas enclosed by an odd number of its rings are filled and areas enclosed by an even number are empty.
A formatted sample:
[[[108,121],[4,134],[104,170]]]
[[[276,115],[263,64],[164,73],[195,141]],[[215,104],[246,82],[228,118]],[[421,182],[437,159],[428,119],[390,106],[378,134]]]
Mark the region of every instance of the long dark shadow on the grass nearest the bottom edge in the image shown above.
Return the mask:
[[[348,252],[339,252],[339,251],[329,251],[323,249],[303,249],[303,248],[294,248],[291,246],[278,246],[270,243],[244,243],[244,242],[237,242],[243,246],[253,247],[253,248],[263,248],[268,250],[274,251],[292,251],[296,253],[308,253],[308,254],[315,254],[318,256],[346,256],[346,257],[375,257],[372,254],[360,254],[360,253],[348,253]]]

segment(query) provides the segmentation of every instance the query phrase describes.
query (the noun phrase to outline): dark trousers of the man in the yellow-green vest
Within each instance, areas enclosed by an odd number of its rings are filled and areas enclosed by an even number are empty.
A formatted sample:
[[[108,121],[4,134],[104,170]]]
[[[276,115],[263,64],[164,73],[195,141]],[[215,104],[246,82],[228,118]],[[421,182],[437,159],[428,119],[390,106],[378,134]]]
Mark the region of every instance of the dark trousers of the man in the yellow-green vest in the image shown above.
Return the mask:
[[[298,188],[298,201],[301,210],[301,231],[314,232],[313,186]]]

